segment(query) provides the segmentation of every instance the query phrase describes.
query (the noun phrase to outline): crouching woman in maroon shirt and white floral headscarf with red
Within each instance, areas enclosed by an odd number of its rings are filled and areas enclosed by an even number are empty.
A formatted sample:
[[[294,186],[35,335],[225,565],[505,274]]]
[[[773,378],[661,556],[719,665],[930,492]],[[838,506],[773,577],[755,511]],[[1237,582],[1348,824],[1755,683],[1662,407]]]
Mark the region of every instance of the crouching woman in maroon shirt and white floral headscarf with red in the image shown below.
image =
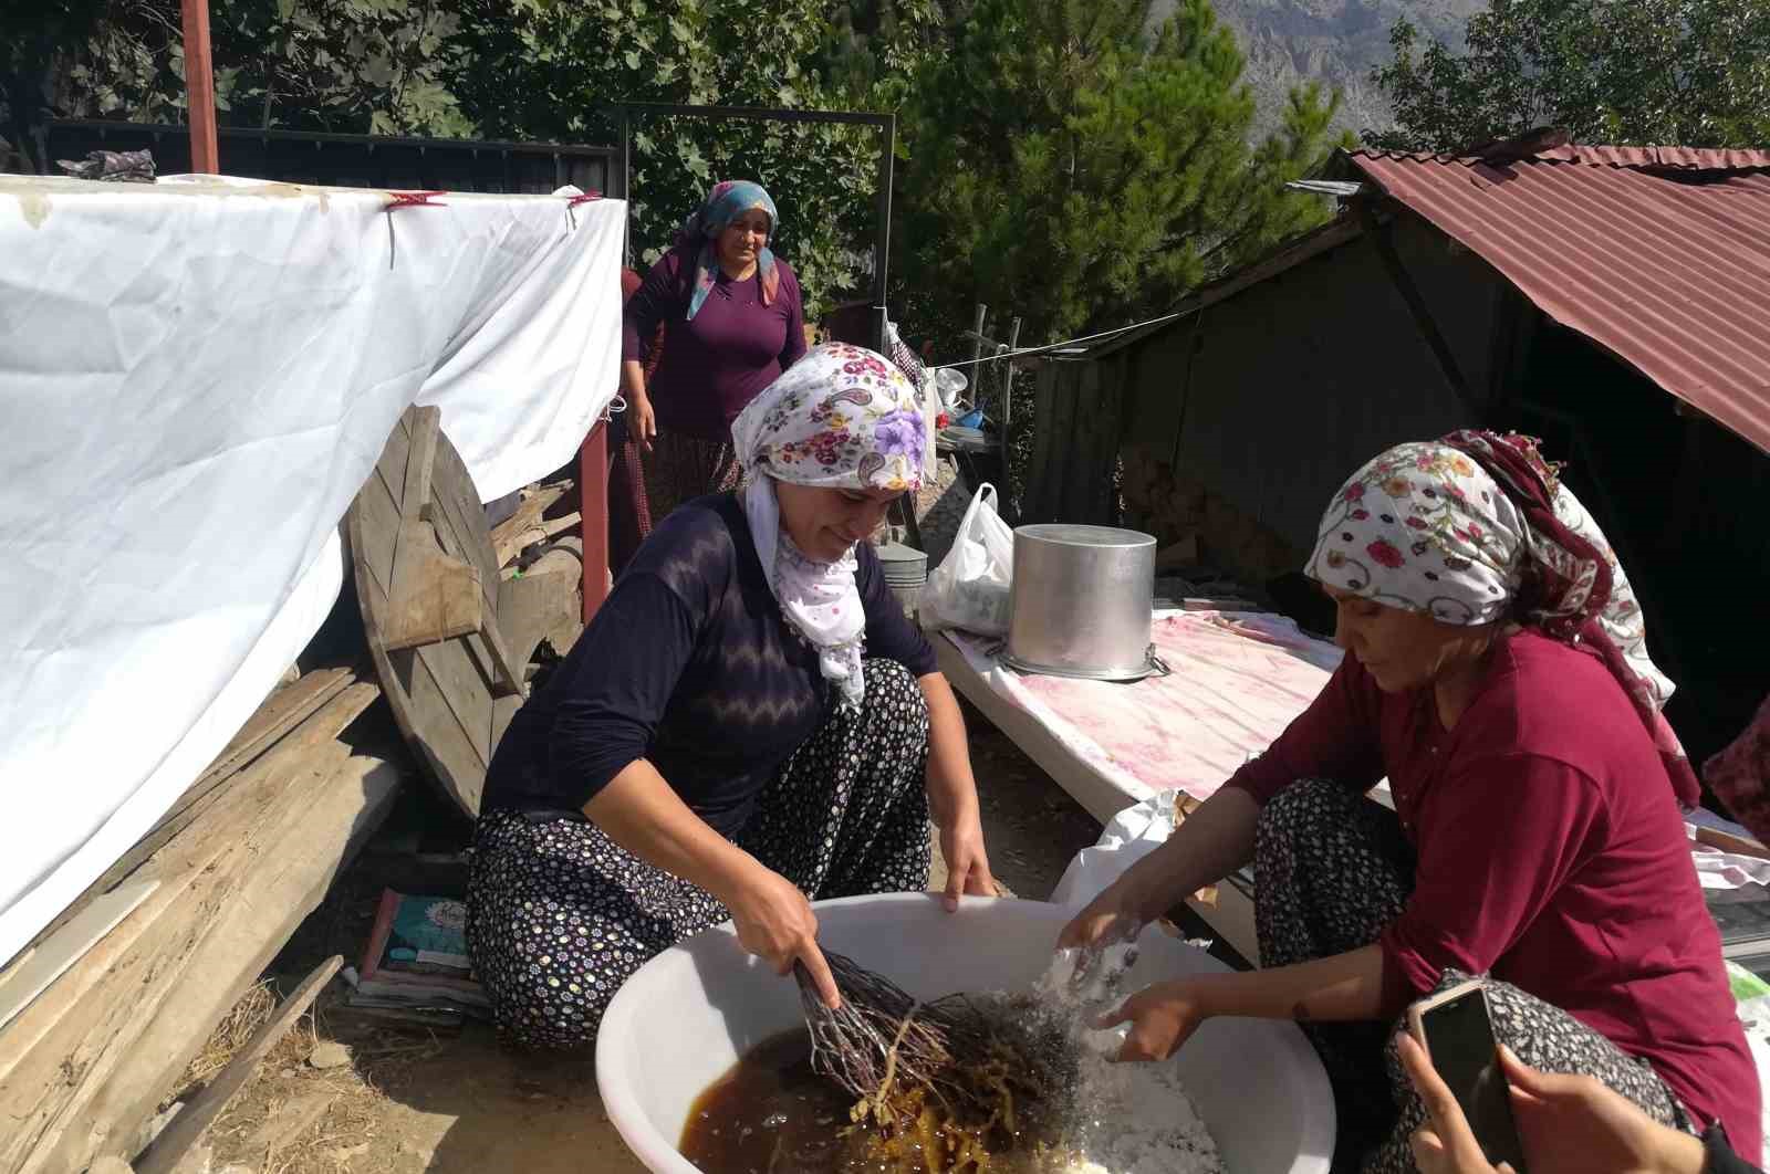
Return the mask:
[[[1308,564],[1349,656],[1260,759],[1060,944],[1135,934],[1255,863],[1260,962],[1161,983],[1113,1017],[1127,1059],[1212,1015],[1294,1018],[1340,1110],[1336,1169],[1411,1170],[1420,1096],[1384,1047],[1471,974],[1496,1034],[1676,1128],[1759,1155],[1758,1071],[1682,810],[1696,776],[1604,536],[1535,442],[1404,444],[1335,497]],[[1388,776],[1395,812],[1365,799]]]

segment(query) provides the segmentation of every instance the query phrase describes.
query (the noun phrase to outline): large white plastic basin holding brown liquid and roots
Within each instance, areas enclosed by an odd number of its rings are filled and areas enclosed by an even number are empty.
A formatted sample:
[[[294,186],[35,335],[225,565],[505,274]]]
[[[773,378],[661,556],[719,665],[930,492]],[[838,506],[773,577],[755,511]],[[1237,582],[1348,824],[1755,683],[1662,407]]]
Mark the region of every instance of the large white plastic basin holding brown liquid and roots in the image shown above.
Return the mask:
[[[825,948],[924,999],[1028,988],[1071,914],[1044,902],[988,898],[966,898],[949,914],[920,893],[818,902],[816,911]],[[1223,969],[1202,949],[1150,930],[1126,988]],[[699,934],[641,967],[609,1004],[596,1040],[602,1103],[646,1169],[694,1174],[676,1153],[694,1100],[740,1054],[800,1022],[798,988],[745,955],[729,923]],[[1326,1174],[1333,1093],[1294,1025],[1211,1020],[1170,1063],[1232,1174]]]

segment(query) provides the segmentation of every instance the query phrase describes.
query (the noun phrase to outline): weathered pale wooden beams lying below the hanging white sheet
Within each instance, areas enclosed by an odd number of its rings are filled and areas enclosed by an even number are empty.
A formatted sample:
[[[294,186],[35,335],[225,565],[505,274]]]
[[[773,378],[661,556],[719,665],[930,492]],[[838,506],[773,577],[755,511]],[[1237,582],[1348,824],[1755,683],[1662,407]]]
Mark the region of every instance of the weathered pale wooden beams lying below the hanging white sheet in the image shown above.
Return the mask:
[[[398,771],[338,741],[379,695],[350,668],[281,686],[88,889],[81,905],[133,893],[122,919],[92,941],[74,909],[0,971],[4,1001],[21,974],[58,969],[0,1029],[0,1172],[142,1147],[209,1033],[386,815]]]

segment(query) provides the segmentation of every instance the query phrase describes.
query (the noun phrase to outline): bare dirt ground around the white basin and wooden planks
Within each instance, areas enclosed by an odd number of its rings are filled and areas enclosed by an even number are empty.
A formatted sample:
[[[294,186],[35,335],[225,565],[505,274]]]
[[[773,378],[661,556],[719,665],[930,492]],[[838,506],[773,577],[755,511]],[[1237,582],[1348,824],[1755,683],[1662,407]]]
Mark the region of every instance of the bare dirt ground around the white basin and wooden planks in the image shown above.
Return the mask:
[[[984,835],[998,880],[1044,898],[1099,824],[974,709],[966,709]],[[377,750],[388,753],[386,744]],[[398,753],[396,750],[391,753]],[[281,990],[340,953],[356,962],[382,888],[458,891],[467,826],[412,776],[395,813],[216,1033],[189,1084],[214,1075],[269,1017]],[[945,868],[935,852],[931,888]],[[207,1135],[214,1174],[524,1174],[641,1170],[609,1123],[591,1059],[538,1059],[499,1047],[490,1027],[391,1029],[342,1004],[340,983],[264,1061]],[[315,1068],[315,1047],[349,1059]],[[188,1174],[200,1174],[204,1156]]]

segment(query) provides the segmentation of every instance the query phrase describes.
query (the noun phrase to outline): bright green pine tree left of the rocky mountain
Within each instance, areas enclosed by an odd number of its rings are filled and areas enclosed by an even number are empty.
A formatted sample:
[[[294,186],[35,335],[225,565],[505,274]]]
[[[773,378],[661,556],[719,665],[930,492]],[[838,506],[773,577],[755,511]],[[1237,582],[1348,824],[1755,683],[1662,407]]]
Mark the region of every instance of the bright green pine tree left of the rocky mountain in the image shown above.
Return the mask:
[[[1250,147],[1230,32],[1184,0],[1147,35],[1149,7],[981,0],[920,72],[894,263],[913,325],[965,324],[979,301],[1023,339],[1124,325],[1326,217],[1285,182],[1333,147],[1333,101],[1294,94]]]

